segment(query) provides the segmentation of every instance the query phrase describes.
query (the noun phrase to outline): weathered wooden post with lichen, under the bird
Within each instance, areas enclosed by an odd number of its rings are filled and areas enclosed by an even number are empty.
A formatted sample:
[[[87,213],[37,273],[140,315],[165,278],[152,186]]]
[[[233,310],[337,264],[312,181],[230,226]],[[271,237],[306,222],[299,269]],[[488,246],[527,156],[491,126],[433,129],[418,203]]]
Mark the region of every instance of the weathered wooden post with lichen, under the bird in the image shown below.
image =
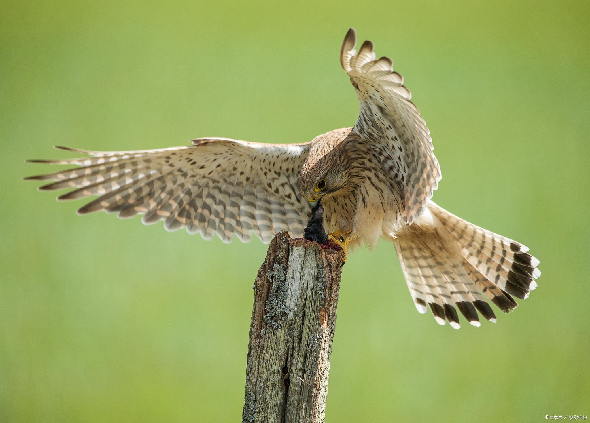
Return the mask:
[[[341,251],[276,234],[255,281],[243,423],[323,423]]]

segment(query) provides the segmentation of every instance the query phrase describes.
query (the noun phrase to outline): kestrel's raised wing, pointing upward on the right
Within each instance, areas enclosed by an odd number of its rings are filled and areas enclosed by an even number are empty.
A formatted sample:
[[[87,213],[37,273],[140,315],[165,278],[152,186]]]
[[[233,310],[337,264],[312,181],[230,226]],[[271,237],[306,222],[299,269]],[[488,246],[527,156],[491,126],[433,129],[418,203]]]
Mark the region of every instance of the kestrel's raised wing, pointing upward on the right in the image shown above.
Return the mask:
[[[404,223],[412,224],[424,212],[441,179],[432,139],[418,108],[410,101],[404,78],[392,71],[387,57],[375,60],[373,43],[365,41],[355,51],[356,32],[350,28],[340,48],[340,64],[359,98],[359,118],[354,130],[382,154],[391,177],[404,187]]]

